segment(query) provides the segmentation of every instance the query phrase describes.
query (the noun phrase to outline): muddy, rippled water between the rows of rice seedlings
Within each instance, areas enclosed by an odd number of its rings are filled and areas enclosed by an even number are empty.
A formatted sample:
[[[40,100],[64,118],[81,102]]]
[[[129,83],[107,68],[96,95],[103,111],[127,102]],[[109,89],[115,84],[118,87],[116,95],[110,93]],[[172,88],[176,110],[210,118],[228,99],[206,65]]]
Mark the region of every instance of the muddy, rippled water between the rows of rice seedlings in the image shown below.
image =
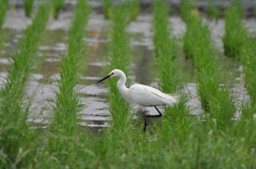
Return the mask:
[[[72,22],[72,11],[62,12],[59,20],[50,21],[47,30],[43,33],[39,44],[37,65],[34,74],[26,87],[26,101],[31,101],[31,113],[29,122],[47,124],[51,121],[54,91],[56,79],[59,79],[59,60],[61,55],[67,52],[67,31]],[[134,54],[132,62],[132,83],[148,84],[157,87],[157,70],[154,66],[154,47],[152,43],[151,15],[141,14],[138,21],[129,24],[127,31],[131,37],[131,48]],[[173,35],[182,39],[186,25],[181,17],[170,17],[173,27]],[[246,96],[244,81],[241,78],[241,66],[236,60],[226,58],[223,55],[221,36],[224,34],[224,21],[209,22],[212,36],[216,43],[217,58],[222,64],[223,78],[230,82],[230,90],[236,95],[238,105]],[[249,31],[256,30],[256,23],[245,20],[249,25]],[[23,9],[15,12],[7,12],[4,29],[0,31],[0,80],[4,81],[8,59],[18,49],[22,31],[31,24],[31,19],[24,17]],[[105,95],[108,89],[104,83],[96,84],[100,77],[105,76],[108,70],[108,56],[110,47],[110,23],[102,15],[93,13],[86,27],[86,50],[85,65],[80,71],[80,82],[76,89],[80,90],[81,101],[85,105],[80,112],[80,125],[88,127],[106,127],[110,119],[108,103]],[[181,42],[181,41],[180,41]],[[189,105],[195,110],[192,114],[201,114],[200,101],[197,97],[195,84],[195,71],[191,60],[185,60],[183,53],[179,52],[177,58],[178,75],[181,79],[181,93],[189,92],[192,99]],[[239,102],[240,101],[240,102]],[[149,114],[154,114],[154,109],[149,109]]]

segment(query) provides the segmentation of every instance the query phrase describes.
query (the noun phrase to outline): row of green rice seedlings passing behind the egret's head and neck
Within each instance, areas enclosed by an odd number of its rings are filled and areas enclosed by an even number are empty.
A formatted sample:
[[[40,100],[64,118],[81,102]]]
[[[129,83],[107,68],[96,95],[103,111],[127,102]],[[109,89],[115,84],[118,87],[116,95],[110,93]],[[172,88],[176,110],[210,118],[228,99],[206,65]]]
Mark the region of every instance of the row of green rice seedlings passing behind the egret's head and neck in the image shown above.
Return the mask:
[[[122,4],[113,9],[113,24],[111,30],[111,50],[109,70],[120,69],[124,74],[129,75],[131,62],[131,51],[129,49],[129,38],[126,28],[129,21],[128,4]],[[121,97],[116,87],[117,79],[110,79],[108,102],[110,103],[111,128],[126,130],[131,125],[131,110],[129,104]],[[128,80],[129,84],[129,80]],[[124,132],[124,131],[123,131]]]

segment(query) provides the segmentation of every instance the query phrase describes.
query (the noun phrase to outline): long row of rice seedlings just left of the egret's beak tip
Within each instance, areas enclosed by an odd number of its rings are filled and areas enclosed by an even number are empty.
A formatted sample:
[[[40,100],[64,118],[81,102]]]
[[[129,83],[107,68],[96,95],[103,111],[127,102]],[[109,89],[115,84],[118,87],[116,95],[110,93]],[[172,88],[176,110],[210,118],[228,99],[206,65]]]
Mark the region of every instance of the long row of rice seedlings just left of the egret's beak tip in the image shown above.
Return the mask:
[[[83,63],[85,45],[83,36],[85,25],[89,20],[90,6],[85,0],[79,0],[76,5],[75,17],[69,29],[67,55],[61,57],[61,72],[58,82],[59,91],[56,91],[56,106],[53,107],[54,136],[49,135],[48,151],[56,157],[60,163],[65,163],[67,156],[61,152],[72,152],[75,149],[78,134],[79,113],[83,108],[80,101],[79,90],[75,90],[75,85],[80,79],[79,71]],[[70,159],[75,157],[70,154]],[[54,162],[53,162],[54,163]]]

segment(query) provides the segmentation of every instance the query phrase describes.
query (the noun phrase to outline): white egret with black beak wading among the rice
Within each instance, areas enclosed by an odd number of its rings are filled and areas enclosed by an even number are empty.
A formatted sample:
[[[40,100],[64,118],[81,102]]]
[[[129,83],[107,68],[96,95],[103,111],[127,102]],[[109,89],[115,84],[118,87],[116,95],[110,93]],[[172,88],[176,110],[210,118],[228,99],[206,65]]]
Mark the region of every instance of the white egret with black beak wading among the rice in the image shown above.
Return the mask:
[[[99,82],[102,82],[103,80],[114,76],[119,77],[119,80],[117,82],[117,88],[124,100],[126,100],[131,106],[140,106],[140,109],[143,110],[145,124],[144,130],[146,130],[147,125],[145,117],[162,117],[162,114],[159,109],[157,109],[157,106],[173,106],[173,104],[177,102],[175,96],[162,93],[154,87],[149,87],[143,84],[133,84],[131,87],[127,88],[125,86],[127,77],[125,76],[124,72],[119,69],[114,69],[110,72],[110,74],[108,74],[108,76],[105,76],[103,79],[99,80]],[[145,115],[145,107],[151,106],[154,106],[154,108],[157,109],[157,111],[159,112],[158,115]]]

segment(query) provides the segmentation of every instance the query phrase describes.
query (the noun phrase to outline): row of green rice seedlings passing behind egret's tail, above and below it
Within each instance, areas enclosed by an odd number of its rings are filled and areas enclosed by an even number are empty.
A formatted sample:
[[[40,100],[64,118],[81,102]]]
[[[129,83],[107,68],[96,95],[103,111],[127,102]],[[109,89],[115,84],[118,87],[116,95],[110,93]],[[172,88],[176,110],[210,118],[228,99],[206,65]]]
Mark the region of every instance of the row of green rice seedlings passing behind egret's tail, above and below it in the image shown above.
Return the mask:
[[[168,20],[169,11],[163,1],[154,1],[154,47],[157,55],[157,68],[159,68],[159,88],[164,93],[176,93],[178,90],[178,74],[176,73],[176,57],[178,45],[176,38],[170,38],[170,24]],[[162,122],[159,132],[167,139],[172,137],[173,130],[178,141],[184,141],[189,123],[189,106],[187,95],[183,95],[172,108],[165,109],[167,120]],[[175,126],[175,127],[174,127]]]

